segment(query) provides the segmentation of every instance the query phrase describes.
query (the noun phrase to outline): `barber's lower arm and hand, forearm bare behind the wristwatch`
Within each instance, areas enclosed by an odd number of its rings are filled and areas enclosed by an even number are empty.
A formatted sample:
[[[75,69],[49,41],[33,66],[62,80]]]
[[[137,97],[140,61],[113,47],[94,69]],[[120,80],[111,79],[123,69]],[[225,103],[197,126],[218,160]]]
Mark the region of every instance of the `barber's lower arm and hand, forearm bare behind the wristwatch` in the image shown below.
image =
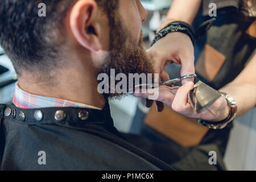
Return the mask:
[[[237,117],[245,114],[256,105],[256,55],[249,62],[242,73],[230,84],[220,89],[220,92],[229,94],[237,101]],[[188,102],[188,93],[193,89],[193,82],[189,81],[181,87],[159,87],[157,101],[171,106],[177,113],[187,115],[191,118],[203,119],[205,121],[219,122],[228,118],[230,106],[224,97],[218,98],[214,104],[208,107],[203,113],[196,113]],[[158,90],[154,90],[158,92]],[[146,94],[134,94],[137,97],[148,98],[152,90]]]

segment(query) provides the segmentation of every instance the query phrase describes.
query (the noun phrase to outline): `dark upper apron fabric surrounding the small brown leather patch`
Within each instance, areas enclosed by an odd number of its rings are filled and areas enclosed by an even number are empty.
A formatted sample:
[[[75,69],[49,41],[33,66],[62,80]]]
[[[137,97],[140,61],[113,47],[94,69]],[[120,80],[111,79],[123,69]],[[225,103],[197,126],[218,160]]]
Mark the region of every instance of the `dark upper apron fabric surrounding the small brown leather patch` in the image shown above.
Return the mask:
[[[201,11],[196,16],[193,26],[197,27],[208,19],[201,16]],[[256,39],[246,34],[246,30],[256,20],[255,18],[243,18],[241,14],[218,14],[212,28],[200,38],[195,46],[195,60],[199,58],[205,44],[216,49],[225,57],[225,63],[212,82],[208,82],[199,73],[197,76],[214,89],[220,89],[232,82],[245,68],[246,63],[256,49]]]

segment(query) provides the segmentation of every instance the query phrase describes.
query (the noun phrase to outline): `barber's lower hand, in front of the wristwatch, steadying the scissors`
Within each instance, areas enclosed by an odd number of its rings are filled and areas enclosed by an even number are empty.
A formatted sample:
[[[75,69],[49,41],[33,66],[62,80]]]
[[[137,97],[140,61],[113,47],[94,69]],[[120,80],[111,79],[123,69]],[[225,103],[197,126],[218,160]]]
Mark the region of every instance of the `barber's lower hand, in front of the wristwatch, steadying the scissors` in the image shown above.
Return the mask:
[[[196,113],[192,105],[188,101],[189,91],[193,89],[193,82],[189,81],[181,87],[169,87],[161,85],[154,92],[159,92],[159,97],[156,99],[168,106],[171,106],[177,113],[187,115],[191,118],[203,119],[207,121],[222,121],[228,117],[229,106],[224,97],[218,98],[208,109],[202,113]],[[141,92],[140,92],[141,93]],[[135,94],[136,97],[148,98],[152,95],[152,90],[147,90],[145,94]]]

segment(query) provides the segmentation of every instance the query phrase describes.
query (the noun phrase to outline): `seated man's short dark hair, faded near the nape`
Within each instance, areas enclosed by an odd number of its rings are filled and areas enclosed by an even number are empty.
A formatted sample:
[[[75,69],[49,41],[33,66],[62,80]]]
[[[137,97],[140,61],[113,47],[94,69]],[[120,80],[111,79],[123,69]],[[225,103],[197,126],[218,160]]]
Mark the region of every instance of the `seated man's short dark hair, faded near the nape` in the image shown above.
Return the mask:
[[[24,71],[47,73],[56,68],[65,42],[63,21],[77,0],[1,0],[0,44],[18,75]],[[107,14],[117,1],[96,0]],[[46,5],[46,17],[39,17],[39,3]],[[111,24],[111,21],[110,21]]]

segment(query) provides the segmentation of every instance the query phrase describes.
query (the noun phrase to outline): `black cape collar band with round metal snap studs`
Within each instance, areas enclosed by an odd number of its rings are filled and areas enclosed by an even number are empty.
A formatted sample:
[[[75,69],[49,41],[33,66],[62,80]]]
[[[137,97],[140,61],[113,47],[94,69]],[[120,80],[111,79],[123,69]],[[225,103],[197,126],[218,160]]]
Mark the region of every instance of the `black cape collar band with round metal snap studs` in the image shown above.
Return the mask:
[[[113,126],[109,104],[104,109],[88,109],[81,107],[47,107],[40,109],[21,109],[13,105],[0,105],[2,118],[27,124],[68,124],[92,123]]]

